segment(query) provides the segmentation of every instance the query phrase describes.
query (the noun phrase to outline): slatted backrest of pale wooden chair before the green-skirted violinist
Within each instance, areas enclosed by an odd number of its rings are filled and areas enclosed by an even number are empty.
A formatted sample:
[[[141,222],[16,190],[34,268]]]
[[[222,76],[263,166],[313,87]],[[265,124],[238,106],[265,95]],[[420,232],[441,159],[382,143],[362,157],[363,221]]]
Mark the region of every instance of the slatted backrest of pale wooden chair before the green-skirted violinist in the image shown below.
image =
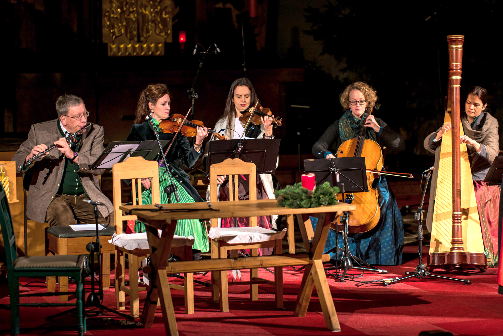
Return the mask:
[[[135,215],[123,215],[119,207],[122,204],[121,180],[131,180],[133,205],[142,205],[141,179],[150,178],[151,202],[160,203],[159,167],[156,161],[147,161],[140,156],[128,157],[124,162],[112,166],[112,180],[114,193],[114,221],[115,232],[122,234],[123,221],[138,219]],[[138,197],[139,196],[139,197]],[[138,198],[138,201],[136,201]]]

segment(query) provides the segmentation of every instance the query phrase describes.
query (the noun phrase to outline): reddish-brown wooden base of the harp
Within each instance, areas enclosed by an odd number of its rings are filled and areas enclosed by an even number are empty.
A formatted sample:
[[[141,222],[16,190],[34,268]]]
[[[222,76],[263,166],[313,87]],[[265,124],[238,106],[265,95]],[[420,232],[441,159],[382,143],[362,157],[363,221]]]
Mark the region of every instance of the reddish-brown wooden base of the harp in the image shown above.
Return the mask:
[[[428,270],[443,269],[479,269],[487,270],[487,258],[482,252],[447,251],[434,252],[428,256]]]

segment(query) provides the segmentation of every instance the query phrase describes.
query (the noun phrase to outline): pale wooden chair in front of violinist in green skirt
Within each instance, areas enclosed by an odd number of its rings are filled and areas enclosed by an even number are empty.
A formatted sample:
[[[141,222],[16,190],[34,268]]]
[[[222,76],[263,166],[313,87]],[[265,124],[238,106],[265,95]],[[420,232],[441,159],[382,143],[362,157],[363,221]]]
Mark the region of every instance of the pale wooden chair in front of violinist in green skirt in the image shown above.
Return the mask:
[[[125,215],[119,207],[122,204],[121,180],[131,180],[133,205],[141,205],[141,179],[150,178],[152,189],[151,204],[160,203],[159,196],[159,169],[156,161],[146,161],[142,157],[129,157],[124,162],[115,163],[112,167],[113,193],[114,193],[114,220],[115,233],[123,234],[123,221],[136,220],[135,215]],[[140,197],[138,197],[140,196]],[[138,197],[138,201],[136,198]],[[145,235],[146,239],[146,235]],[[115,295],[117,299],[117,309],[126,308],[125,295],[129,295],[129,308],[131,316],[139,317],[140,304],[138,299],[139,291],[146,291],[147,288],[138,288],[138,269],[141,261],[147,258],[150,251],[148,248],[126,249],[115,246]],[[181,246],[172,248],[172,253],[182,259],[192,260],[192,246]],[[124,284],[125,255],[129,261],[129,288]],[[170,284],[170,288],[185,291],[185,313],[194,313],[194,284],[193,273],[184,275],[184,286]]]

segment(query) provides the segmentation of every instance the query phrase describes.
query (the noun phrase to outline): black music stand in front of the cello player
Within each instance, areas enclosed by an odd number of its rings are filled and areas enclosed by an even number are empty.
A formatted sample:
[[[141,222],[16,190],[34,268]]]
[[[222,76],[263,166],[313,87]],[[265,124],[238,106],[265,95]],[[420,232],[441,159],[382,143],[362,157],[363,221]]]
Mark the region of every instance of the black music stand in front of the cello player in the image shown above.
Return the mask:
[[[339,187],[343,194],[343,202],[351,204],[353,195],[346,195],[350,193],[365,193],[368,192],[367,186],[367,170],[365,166],[365,157],[339,157],[330,159],[307,159],[304,160],[304,171],[306,173],[313,173],[316,177],[316,185],[324,182],[330,183],[330,186]],[[386,270],[379,270],[370,265],[369,263],[355,257],[351,254],[348,244],[348,225],[349,225],[349,211],[344,211],[340,218],[341,224],[344,225],[342,231],[344,238],[344,249],[339,247],[338,237],[339,232],[336,230],[336,246],[327,251],[329,253],[336,253],[336,265],[334,267],[325,268],[325,271],[343,269],[341,282],[344,282],[346,273],[351,269],[362,271],[373,271],[379,273],[388,273]],[[339,251],[343,251],[343,258],[340,265],[338,265]],[[353,266],[353,261],[357,262],[360,267]],[[367,267],[363,267],[365,265]]]

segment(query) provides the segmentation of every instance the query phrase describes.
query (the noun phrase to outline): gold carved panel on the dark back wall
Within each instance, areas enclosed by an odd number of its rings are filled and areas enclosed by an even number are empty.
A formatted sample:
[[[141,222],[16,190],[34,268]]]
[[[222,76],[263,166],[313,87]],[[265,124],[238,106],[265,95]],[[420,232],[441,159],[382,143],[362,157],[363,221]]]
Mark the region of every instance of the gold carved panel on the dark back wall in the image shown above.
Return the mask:
[[[103,42],[109,56],[164,55],[173,42],[172,0],[103,0]]]

